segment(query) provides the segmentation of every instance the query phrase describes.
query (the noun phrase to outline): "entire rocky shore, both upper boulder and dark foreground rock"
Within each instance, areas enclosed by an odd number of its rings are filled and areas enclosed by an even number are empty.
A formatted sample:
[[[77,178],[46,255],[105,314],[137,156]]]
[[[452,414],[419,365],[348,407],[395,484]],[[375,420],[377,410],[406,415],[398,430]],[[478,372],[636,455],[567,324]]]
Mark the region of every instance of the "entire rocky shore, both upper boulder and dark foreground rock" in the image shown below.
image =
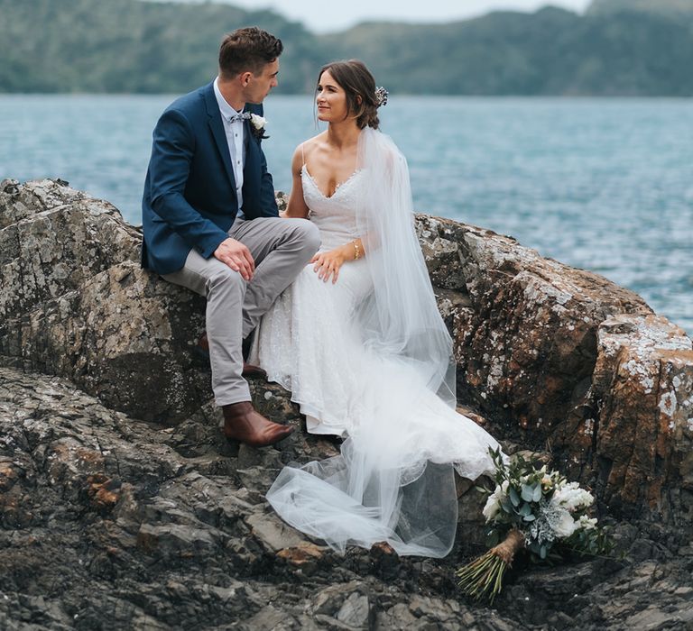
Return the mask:
[[[416,226],[467,413],[506,451],[548,451],[592,485],[623,561],[511,577],[496,610],[458,602],[452,571],[484,535],[463,480],[443,562],[340,557],[293,531],[263,493],[284,464],[335,445],[259,381],[256,406],[299,431],[264,450],[221,440],[193,352],[204,301],[139,269],[140,233],[113,206],[60,181],[5,180],[0,626],[693,624],[688,337],[632,292],[511,238],[426,215]]]

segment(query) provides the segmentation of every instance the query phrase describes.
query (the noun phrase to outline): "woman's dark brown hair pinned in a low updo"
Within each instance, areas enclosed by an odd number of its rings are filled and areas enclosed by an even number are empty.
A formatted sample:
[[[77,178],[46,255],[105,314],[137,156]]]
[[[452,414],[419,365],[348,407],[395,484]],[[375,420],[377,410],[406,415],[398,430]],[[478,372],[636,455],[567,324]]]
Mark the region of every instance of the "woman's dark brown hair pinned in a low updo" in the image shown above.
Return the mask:
[[[375,79],[363,61],[349,59],[348,61],[332,61],[325,64],[319,72],[318,82],[322,74],[328,70],[347,93],[347,112],[356,118],[359,129],[364,127],[378,128],[378,105],[375,96]]]

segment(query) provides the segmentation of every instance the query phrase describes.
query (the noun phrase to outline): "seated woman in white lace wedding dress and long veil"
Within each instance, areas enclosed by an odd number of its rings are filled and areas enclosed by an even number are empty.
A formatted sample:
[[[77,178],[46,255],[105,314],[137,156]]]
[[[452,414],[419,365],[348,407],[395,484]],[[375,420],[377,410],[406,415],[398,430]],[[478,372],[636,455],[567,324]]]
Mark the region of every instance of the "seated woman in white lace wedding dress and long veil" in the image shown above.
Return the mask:
[[[442,557],[457,529],[454,470],[493,471],[498,445],[455,411],[407,164],[378,131],[386,98],[360,61],[320,70],[328,129],[295,151],[284,215],[310,219],[322,246],[263,316],[249,361],[291,390],[309,432],[346,437],[338,456],[281,471],[267,493],[277,513],[341,552],[385,541]]]

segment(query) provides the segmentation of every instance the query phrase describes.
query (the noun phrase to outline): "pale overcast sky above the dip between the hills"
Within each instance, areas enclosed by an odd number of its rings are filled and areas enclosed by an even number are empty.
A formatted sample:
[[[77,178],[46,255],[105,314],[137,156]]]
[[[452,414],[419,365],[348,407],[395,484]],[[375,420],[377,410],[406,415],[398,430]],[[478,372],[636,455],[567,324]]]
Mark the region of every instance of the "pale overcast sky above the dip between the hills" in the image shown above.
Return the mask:
[[[590,0],[226,0],[251,9],[273,8],[314,32],[339,31],[365,20],[447,22],[499,9],[534,11],[544,5],[581,12]]]

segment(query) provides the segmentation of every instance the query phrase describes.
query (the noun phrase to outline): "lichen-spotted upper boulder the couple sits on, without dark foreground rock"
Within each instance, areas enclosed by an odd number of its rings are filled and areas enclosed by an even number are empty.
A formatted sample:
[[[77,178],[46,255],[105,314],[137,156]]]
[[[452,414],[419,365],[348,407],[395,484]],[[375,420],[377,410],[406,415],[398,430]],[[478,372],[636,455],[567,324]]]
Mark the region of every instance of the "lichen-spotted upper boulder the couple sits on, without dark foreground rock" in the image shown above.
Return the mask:
[[[209,408],[208,366],[194,353],[204,300],[139,269],[141,235],[113,206],[60,182],[5,180],[0,226],[0,361],[66,377],[107,407],[166,425]],[[511,238],[428,215],[416,227],[468,414],[499,437],[550,444],[556,464],[614,514],[689,523],[685,334],[633,292]],[[666,380],[646,392],[660,366]],[[254,386],[254,400],[300,424],[278,387]],[[296,446],[295,459],[312,457]]]

